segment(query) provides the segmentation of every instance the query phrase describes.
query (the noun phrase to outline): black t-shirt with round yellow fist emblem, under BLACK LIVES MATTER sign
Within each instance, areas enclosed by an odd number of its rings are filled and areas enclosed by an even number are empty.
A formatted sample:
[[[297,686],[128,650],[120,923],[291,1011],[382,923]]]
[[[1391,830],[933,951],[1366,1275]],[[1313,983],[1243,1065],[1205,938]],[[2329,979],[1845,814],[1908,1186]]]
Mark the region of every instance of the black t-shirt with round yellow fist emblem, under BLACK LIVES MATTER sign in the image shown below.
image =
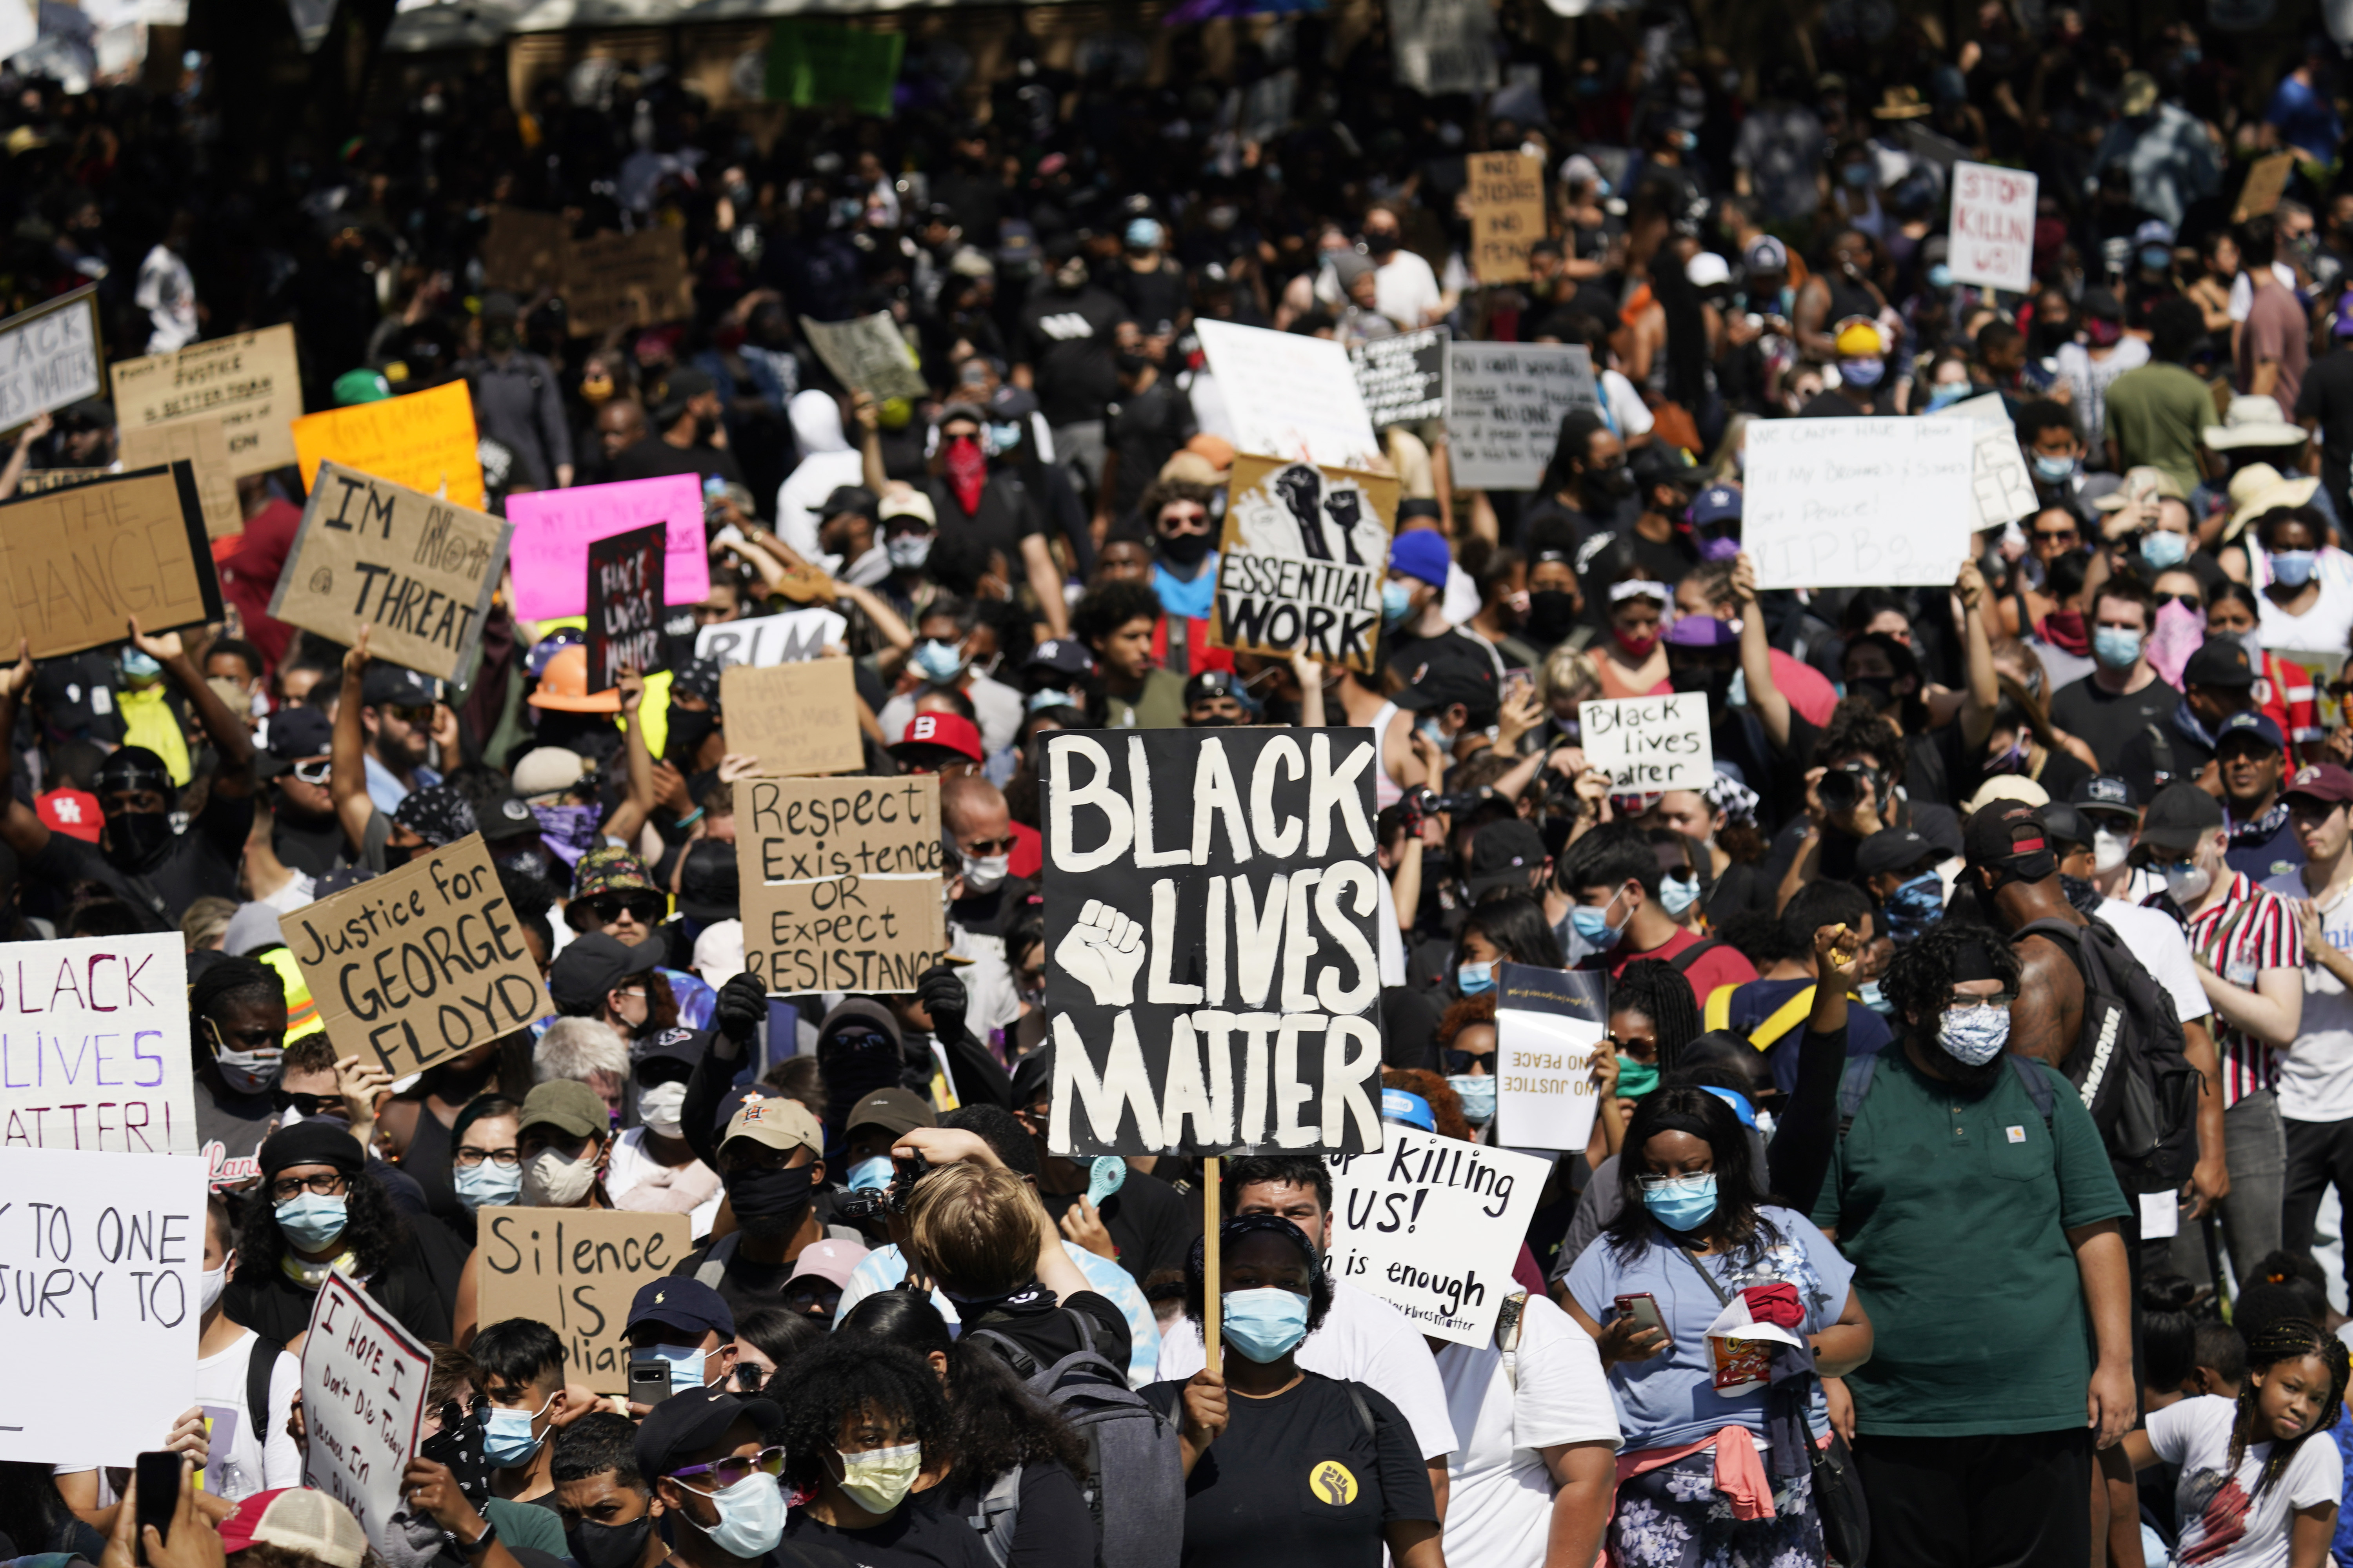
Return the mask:
[[[1184,1568],[1379,1568],[1381,1526],[1438,1521],[1414,1429],[1379,1389],[1353,1392],[1301,1373],[1273,1399],[1226,1401],[1226,1432],[1186,1476]],[[1144,1389],[1169,1418],[1181,1394]]]

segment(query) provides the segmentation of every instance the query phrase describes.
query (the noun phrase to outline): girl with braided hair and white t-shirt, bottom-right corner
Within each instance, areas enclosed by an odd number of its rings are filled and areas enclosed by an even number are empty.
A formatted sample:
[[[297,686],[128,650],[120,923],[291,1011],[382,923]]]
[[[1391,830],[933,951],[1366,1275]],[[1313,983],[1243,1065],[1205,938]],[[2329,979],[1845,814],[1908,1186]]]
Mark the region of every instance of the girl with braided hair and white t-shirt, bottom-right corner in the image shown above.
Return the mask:
[[[2306,1439],[2344,1420],[2346,1371],[2346,1347],[2318,1324],[2273,1319],[2247,1340],[2238,1399],[2184,1399],[2125,1434],[2134,1469],[2181,1472],[2174,1561],[2325,1568],[2344,1469],[2337,1443]]]

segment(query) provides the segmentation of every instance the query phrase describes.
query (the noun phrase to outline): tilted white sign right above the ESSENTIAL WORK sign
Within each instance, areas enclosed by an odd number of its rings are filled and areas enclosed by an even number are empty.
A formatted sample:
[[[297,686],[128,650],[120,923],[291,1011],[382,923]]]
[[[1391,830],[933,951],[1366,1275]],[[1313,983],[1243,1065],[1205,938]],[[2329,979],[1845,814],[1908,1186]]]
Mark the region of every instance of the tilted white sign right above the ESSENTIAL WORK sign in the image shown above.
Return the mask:
[[[1226,400],[1235,451],[1329,468],[1362,468],[1381,456],[1346,348],[1212,320],[1195,322],[1195,331]]]

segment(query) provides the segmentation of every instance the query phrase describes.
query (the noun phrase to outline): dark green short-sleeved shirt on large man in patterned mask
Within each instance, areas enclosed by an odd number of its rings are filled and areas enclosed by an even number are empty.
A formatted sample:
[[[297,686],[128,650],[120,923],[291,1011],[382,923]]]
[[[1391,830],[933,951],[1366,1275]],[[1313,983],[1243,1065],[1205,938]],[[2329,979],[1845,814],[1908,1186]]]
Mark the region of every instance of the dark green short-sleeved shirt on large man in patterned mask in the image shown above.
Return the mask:
[[[2129,1213],[2082,1098],[2052,1121],[2014,1072],[1981,1098],[1880,1053],[1814,1225],[1838,1229],[1871,1314],[1847,1375],[1857,1432],[1977,1436],[2082,1427],[2092,1319],[2066,1232]]]

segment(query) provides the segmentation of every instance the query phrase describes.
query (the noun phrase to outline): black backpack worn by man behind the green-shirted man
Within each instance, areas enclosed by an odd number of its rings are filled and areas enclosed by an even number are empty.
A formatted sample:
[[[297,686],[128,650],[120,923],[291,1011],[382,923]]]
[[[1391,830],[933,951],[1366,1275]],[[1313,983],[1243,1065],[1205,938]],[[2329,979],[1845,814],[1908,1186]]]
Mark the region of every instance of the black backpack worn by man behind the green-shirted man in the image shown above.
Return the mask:
[[[2125,1192],[2174,1192],[2198,1164],[2200,1074],[2174,999],[2099,917],[2038,919],[2012,943],[2047,936],[2082,976],[2082,1032],[2059,1072],[2082,1095]]]

